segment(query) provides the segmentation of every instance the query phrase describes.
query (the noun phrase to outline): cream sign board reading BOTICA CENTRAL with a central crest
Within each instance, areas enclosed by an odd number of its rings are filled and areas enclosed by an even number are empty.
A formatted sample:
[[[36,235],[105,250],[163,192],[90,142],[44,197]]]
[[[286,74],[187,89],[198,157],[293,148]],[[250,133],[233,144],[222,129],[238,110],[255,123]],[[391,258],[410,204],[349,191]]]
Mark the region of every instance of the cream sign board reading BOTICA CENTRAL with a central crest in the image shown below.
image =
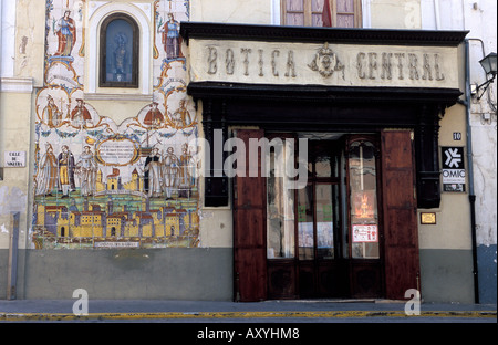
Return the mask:
[[[193,39],[191,82],[458,87],[457,48]]]

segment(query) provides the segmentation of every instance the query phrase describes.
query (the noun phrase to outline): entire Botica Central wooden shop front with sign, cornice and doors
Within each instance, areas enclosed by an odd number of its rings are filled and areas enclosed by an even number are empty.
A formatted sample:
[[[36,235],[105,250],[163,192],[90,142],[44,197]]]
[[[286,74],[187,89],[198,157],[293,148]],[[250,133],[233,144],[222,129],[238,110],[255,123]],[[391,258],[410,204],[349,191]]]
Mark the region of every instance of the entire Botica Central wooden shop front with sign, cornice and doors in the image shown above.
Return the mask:
[[[204,181],[205,207],[232,209],[235,299],[419,289],[417,209],[439,207],[439,119],[461,94],[466,32],[188,22],[181,34],[209,160],[218,134],[246,150],[246,174],[214,166]]]

